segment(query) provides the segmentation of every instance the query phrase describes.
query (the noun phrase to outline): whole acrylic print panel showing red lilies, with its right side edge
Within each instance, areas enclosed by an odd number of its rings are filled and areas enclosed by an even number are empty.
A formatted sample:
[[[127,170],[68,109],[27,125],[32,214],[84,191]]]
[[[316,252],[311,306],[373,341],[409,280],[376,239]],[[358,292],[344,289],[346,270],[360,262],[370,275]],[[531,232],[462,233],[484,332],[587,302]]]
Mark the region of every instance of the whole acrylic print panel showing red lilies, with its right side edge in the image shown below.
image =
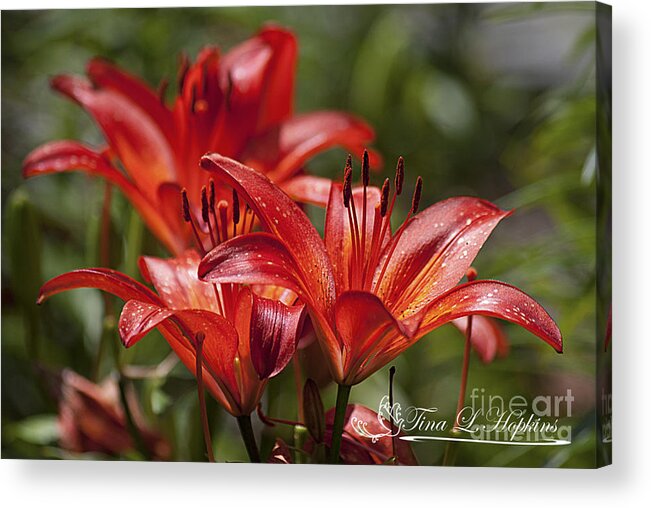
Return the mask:
[[[610,463],[608,6],[2,18],[3,458]]]

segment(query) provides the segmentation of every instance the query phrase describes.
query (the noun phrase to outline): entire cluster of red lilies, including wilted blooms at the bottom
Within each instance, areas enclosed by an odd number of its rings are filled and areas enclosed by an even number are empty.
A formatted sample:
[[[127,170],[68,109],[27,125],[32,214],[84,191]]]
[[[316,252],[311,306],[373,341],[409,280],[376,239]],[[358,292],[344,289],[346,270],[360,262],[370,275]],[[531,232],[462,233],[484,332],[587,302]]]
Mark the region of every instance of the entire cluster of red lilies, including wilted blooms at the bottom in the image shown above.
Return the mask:
[[[394,223],[396,202],[406,194],[403,159],[392,179],[373,186],[371,169],[380,167],[380,157],[366,149],[374,137],[366,123],[340,112],[295,115],[296,56],[295,37],[277,27],[224,56],[205,48],[194,63],[182,58],[171,104],[167,82],[151,90],[99,59],[85,78],[55,77],[52,86],[90,113],[107,146],[48,143],[26,158],[24,175],[81,170],[105,178],[173,257],[141,258],[148,285],[108,266],[65,273],[43,285],[39,303],[61,291],[97,288],[125,302],[118,323],[125,347],[158,329],[196,377],[211,460],[219,444],[212,443],[205,389],[237,419],[252,461],[287,463],[295,454],[322,461],[327,453],[332,463],[415,464],[405,441],[375,442],[354,432],[353,416],[381,417],[348,404],[352,386],[453,323],[466,337],[462,403],[470,349],[484,362],[508,352],[494,318],[524,327],[558,352],[561,334],[533,298],[504,282],[478,279],[471,266],[511,212],[472,197],[424,207],[418,177],[408,213]],[[340,181],[305,174],[309,158],[333,146],[360,156],[359,184],[350,156]],[[323,237],[304,202],[325,207]],[[311,340],[317,363],[338,385],[336,406],[327,412],[310,379],[316,374],[300,373],[297,350]],[[265,387],[292,361],[307,378],[296,394],[297,419],[266,417],[260,406]],[[70,386],[84,385],[75,388],[83,397],[100,393],[70,373],[66,378],[74,381]],[[67,395],[62,404],[66,428],[79,427],[68,408],[79,406],[74,401],[83,402],[82,395]],[[92,413],[82,406],[77,414]],[[124,430],[129,408],[111,407],[119,442],[106,444],[102,434],[93,447],[123,450],[133,445]],[[278,440],[271,456],[261,457],[251,425],[256,409],[268,425],[306,427],[309,441],[295,443],[294,452]],[[156,456],[166,458],[162,438],[141,422],[137,427],[149,448],[156,445]],[[75,449],[90,439],[78,437],[81,431],[74,435]]]

